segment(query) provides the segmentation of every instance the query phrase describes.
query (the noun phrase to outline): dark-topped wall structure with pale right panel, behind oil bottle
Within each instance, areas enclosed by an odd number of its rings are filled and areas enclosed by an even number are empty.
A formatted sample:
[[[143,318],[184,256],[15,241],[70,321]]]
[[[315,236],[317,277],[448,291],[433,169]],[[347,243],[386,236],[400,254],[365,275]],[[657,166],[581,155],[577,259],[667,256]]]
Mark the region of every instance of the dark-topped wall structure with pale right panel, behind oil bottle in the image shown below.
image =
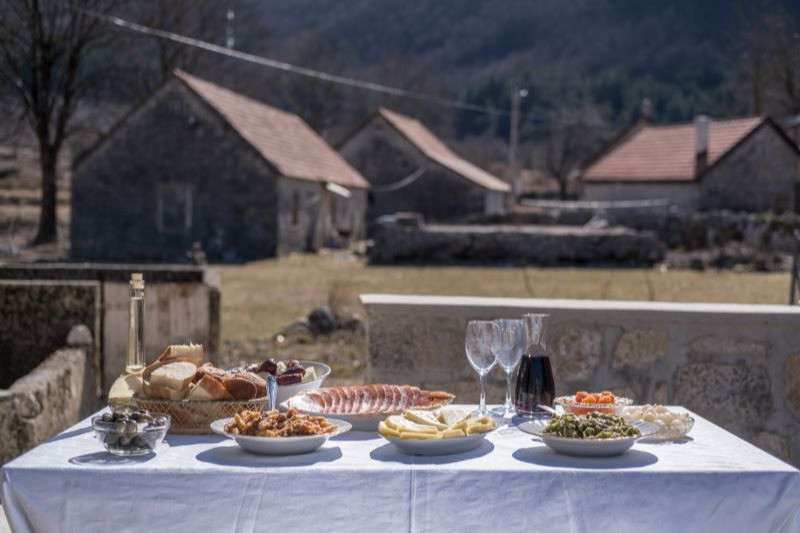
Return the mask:
[[[132,272],[144,274],[147,360],[158,357],[168,344],[193,341],[204,345],[210,361],[218,361],[220,282],[214,269],[91,263],[8,265],[0,268],[0,365],[7,361],[25,364],[14,363],[18,370],[13,379],[0,387],[30,371],[63,344],[71,325],[82,323],[89,325],[95,338],[97,388],[107,391],[125,366]],[[85,281],[55,281],[58,279]],[[82,288],[80,297],[74,294],[78,291],[75,287]],[[94,296],[85,295],[87,290]],[[0,373],[0,378],[4,376]]]

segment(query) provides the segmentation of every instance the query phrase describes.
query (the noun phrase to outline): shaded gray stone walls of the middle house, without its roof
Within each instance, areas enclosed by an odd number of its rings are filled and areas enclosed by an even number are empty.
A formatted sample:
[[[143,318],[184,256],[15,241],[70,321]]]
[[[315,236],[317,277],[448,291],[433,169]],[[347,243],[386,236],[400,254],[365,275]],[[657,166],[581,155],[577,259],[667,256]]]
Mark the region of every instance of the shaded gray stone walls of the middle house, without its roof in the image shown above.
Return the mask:
[[[375,119],[339,149],[373,187],[367,218],[399,211],[422,213],[426,220],[444,221],[482,213],[487,191],[424,157],[383,119]],[[424,174],[408,186],[381,192],[423,168]]]

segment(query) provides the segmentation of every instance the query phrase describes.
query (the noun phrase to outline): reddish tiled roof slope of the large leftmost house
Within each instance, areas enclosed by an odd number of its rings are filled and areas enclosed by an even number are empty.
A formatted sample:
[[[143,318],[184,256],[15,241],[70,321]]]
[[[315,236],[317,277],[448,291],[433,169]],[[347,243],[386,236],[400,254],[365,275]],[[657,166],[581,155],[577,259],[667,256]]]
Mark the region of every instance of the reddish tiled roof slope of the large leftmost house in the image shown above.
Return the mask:
[[[181,70],[176,70],[175,76],[219,112],[282,175],[345,187],[369,187],[367,180],[297,115]]]

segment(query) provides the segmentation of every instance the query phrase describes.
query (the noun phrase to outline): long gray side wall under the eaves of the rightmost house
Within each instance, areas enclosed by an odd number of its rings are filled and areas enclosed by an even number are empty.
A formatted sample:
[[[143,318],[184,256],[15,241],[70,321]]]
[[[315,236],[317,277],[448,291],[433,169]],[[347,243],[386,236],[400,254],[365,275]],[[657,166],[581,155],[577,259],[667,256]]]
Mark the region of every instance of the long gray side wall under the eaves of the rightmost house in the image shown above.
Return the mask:
[[[581,184],[581,200],[608,202],[620,200],[669,200],[684,209],[697,209],[701,192],[697,183],[592,183]]]

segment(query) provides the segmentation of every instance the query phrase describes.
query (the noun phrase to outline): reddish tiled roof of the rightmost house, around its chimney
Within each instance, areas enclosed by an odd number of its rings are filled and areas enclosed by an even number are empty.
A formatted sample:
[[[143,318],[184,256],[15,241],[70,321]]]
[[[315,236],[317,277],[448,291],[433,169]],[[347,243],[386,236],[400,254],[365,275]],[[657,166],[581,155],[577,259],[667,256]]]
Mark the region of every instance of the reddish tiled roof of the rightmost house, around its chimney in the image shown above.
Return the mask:
[[[712,121],[708,130],[710,167],[765,119]],[[695,125],[646,125],[592,163],[583,173],[592,181],[694,181]]]

